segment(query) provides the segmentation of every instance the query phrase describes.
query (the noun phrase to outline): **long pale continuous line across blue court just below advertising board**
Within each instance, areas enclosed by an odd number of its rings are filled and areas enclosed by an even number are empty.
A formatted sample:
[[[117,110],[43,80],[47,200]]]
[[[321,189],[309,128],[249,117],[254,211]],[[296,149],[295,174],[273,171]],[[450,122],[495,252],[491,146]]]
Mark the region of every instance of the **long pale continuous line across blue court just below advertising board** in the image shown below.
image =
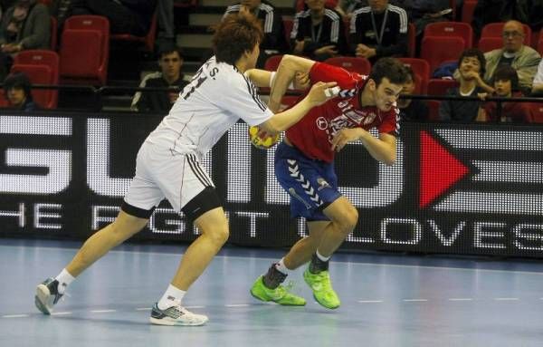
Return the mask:
[[[34,247],[34,246],[7,246],[0,245],[0,247],[8,248],[22,248],[28,249],[32,248],[33,250],[53,250],[53,251],[64,251],[71,252],[77,251],[79,248],[62,248],[62,247]],[[131,253],[131,254],[141,254],[141,255],[167,255],[167,256],[176,256],[179,257],[184,253],[167,253],[167,252],[142,252],[142,251],[130,251],[130,250],[112,250],[108,252],[109,254],[117,253]],[[215,258],[230,258],[230,259],[243,259],[246,260],[249,256],[240,256],[240,255],[215,255]],[[252,256],[253,258],[258,258],[262,260],[271,260],[276,261],[277,258],[268,258],[260,256]],[[424,268],[424,269],[433,269],[433,270],[447,270],[447,271],[469,271],[469,272],[489,272],[489,273],[515,273],[515,274],[526,274],[526,275],[543,275],[543,272],[535,271],[523,271],[523,270],[496,270],[496,269],[480,269],[480,268],[466,268],[466,267],[451,267],[451,266],[429,266],[429,265],[395,265],[395,264],[374,264],[374,263],[357,263],[357,262],[348,262],[348,261],[334,261],[337,264],[348,264],[348,265],[360,265],[360,266],[377,266],[377,267],[399,267],[399,268]]]

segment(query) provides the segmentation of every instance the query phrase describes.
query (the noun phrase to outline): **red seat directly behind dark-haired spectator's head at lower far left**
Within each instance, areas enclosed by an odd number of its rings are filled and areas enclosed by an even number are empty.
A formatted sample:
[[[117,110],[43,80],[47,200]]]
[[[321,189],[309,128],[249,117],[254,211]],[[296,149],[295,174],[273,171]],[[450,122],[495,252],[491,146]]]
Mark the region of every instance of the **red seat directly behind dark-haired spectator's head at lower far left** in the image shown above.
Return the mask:
[[[32,84],[55,84],[52,70],[47,65],[14,64],[11,72],[24,72]],[[43,109],[56,108],[56,99],[53,100],[51,91],[33,89],[32,97]]]

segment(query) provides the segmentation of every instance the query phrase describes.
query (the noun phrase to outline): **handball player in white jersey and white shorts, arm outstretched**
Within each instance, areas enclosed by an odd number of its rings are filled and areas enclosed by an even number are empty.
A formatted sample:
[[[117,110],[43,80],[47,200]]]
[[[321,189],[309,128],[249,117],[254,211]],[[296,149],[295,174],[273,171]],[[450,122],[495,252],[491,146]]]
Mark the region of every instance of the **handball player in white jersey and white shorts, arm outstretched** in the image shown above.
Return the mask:
[[[119,216],[84,243],[62,272],[36,289],[36,307],[52,312],[69,284],[114,246],[137,234],[161,200],[167,198],[201,232],[186,249],[164,295],[153,305],[150,322],[161,325],[202,325],[204,314],[183,307],[186,291],[202,275],[228,239],[228,222],[214,184],[200,159],[237,120],[259,125],[271,134],[287,130],[314,106],[329,100],[320,82],[288,111],[273,114],[259,99],[258,86],[269,86],[270,72],[254,68],[262,42],[261,24],[251,15],[233,14],[214,34],[214,57],[196,72],[167,117],[138,151],[136,174]],[[253,81],[251,81],[251,80]]]

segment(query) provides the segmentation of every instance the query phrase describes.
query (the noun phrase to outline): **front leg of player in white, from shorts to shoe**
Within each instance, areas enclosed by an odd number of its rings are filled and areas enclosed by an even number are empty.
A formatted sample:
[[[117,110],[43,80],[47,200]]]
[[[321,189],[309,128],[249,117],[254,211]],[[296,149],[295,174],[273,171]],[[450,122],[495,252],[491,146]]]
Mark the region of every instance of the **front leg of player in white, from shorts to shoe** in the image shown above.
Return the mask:
[[[151,310],[150,322],[160,325],[202,325],[208,319],[182,305],[186,291],[202,275],[214,255],[228,239],[228,221],[224,209],[208,177],[194,155],[176,156],[177,169],[165,169],[160,187],[176,210],[193,220],[201,232],[187,249],[176,275],[166,292]],[[188,202],[187,202],[188,201]]]

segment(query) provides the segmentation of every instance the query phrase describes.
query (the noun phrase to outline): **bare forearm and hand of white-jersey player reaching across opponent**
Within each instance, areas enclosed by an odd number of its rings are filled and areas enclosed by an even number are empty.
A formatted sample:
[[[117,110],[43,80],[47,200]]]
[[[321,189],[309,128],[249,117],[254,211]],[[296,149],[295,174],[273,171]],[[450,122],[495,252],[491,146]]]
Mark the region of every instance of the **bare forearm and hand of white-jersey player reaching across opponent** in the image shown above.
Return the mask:
[[[319,106],[336,97],[337,93],[330,92],[336,84],[336,82],[315,83],[311,87],[308,95],[306,95],[302,101],[298,102],[287,111],[274,114],[269,120],[264,121],[259,126],[271,134],[291,128],[291,126],[301,120],[311,108]]]

